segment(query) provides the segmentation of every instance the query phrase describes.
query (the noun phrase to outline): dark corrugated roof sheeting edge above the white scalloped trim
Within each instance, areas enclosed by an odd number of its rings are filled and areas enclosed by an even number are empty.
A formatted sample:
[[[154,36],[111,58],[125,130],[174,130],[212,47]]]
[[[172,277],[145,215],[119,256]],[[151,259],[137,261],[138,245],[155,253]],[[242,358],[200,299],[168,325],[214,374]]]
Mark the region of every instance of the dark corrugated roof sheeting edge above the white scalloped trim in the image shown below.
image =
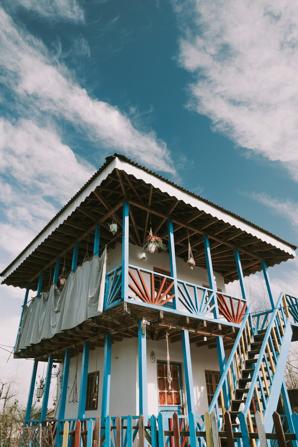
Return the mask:
[[[274,237],[275,239],[277,239],[277,240],[279,240],[279,241],[281,241],[281,242],[283,242],[283,243],[285,243],[286,245],[289,245],[292,249],[297,249],[297,246],[296,245],[293,245],[293,244],[290,244],[289,242],[287,242],[286,240],[284,240],[284,239],[281,239],[280,237],[278,237],[278,236],[276,236],[276,235],[274,235],[273,233],[271,233],[271,232],[269,232],[269,231],[267,231],[267,230],[265,230],[264,228],[261,228],[261,227],[259,227],[258,225],[256,225],[255,223],[252,223],[252,222],[250,222],[249,220],[247,220],[247,219],[244,219],[243,217],[241,217],[241,216],[239,216],[239,215],[236,215],[235,213],[233,213],[233,212],[231,212],[231,211],[228,211],[228,210],[226,210],[225,208],[223,208],[223,207],[219,207],[219,205],[216,205],[215,203],[213,203],[213,202],[210,202],[209,200],[207,200],[207,199],[205,199],[205,198],[203,198],[203,197],[201,197],[201,196],[199,196],[199,195],[197,195],[197,194],[195,194],[195,193],[193,193],[193,192],[191,192],[191,191],[189,191],[189,190],[186,190],[186,189],[184,189],[184,188],[182,188],[182,186],[178,186],[176,183],[174,183],[173,181],[170,181],[170,180],[168,180],[167,178],[165,178],[165,177],[162,177],[161,175],[159,175],[159,174],[157,174],[157,173],[155,173],[155,172],[153,172],[153,171],[151,171],[150,169],[148,169],[148,168],[145,168],[145,166],[141,166],[140,164],[138,164],[138,163],[136,163],[135,161],[132,161],[132,160],[130,160],[129,158],[127,158],[126,156],[124,156],[124,155],[121,155],[121,154],[114,154],[114,155],[112,155],[112,156],[108,156],[108,157],[106,157],[106,162],[101,166],[101,168],[99,168],[99,170],[97,171],[97,172],[95,172],[94,174],[93,174],[93,176],[85,183],[85,185],[66,203],[66,205],[60,210],[60,211],[58,211],[58,213],[53,217],[53,219],[51,219],[50,220],[50,222],[49,223],[47,223],[46,224],[46,226],[37,234],[37,236],[35,236],[35,238],[25,247],[25,249],[24,250],[22,250],[21,251],[21,253],[5,268],[5,270],[3,270],[1,273],[0,273],[0,275],[3,275],[5,272],[6,272],[6,270],[8,270],[11,266],[12,266],[12,264],[14,264],[16,261],[17,261],[17,259],[19,258],[19,257],[21,257],[21,255],[30,247],[30,245],[32,245],[33,244],[33,242],[46,230],[46,228],[48,228],[49,226],[50,226],[50,224],[51,223],[53,223],[54,222],[54,220],[55,219],[57,219],[57,217],[62,213],[62,211],[64,211],[81,193],[82,193],[82,191],[83,190],[85,190],[85,188],[99,175],[99,173],[101,173],[102,171],[103,171],[103,169],[105,169],[107,166],[108,166],[108,164],[110,164],[111,163],[111,161],[115,158],[115,157],[118,157],[119,159],[121,159],[121,160],[124,160],[124,161],[126,161],[126,162],[128,162],[128,163],[130,163],[130,164],[132,164],[133,166],[136,166],[137,168],[139,168],[139,169],[143,169],[144,171],[146,171],[146,172],[148,172],[148,173],[150,173],[150,174],[152,174],[152,175],[154,175],[155,177],[157,177],[157,178],[159,178],[159,179],[161,179],[161,180],[163,180],[163,181],[166,181],[167,183],[169,183],[170,185],[172,185],[172,186],[174,186],[175,188],[178,188],[179,190],[181,190],[181,191],[184,191],[185,193],[187,193],[187,194],[190,194],[191,196],[193,196],[193,197],[195,197],[195,198],[198,198],[199,200],[202,200],[203,202],[206,202],[206,203],[208,203],[209,205],[211,205],[211,206],[213,206],[213,207],[215,207],[215,208],[218,208],[219,210],[221,210],[221,211],[224,211],[225,213],[227,213],[227,214],[229,214],[229,215],[232,215],[233,217],[236,217],[237,219],[240,219],[241,221],[243,221],[243,222],[245,222],[245,223],[248,223],[249,225],[251,225],[252,227],[254,227],[254,228],[257,228],[258,230],[260,230],[260,231],[262,231],[262,232],[264,232],[264,233],[266,233],[266,234],[268,234],[268,235],[270,235],[270,236],[272,236],[272,237]]]

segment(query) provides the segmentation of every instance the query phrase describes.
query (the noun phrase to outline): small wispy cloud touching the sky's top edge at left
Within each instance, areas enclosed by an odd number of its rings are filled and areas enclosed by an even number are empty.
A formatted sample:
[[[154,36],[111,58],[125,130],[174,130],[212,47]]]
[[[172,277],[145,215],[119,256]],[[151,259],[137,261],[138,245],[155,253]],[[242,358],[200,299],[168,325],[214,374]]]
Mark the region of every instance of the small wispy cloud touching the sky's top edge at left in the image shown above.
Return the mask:
[[[17,0],[29,11],[54,20],[83,21],[84,11],[76,0]],[[14,6],[17,6],[14,4]]]

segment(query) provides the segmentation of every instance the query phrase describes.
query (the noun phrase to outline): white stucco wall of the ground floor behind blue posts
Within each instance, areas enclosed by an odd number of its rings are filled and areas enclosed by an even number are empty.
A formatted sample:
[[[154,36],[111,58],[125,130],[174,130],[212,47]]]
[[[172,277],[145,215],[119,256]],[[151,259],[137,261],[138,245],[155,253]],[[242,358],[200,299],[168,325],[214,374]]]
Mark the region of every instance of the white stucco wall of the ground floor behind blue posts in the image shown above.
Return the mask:
[[[187,413],[186,389],[183,368],[182,342],[170,343],[170,362],[180,363],[182,371],[182,392]],[[88,372],[95,371],[96,352],[91,350],[89,355]],[[154,352],[156,361],[150,362],[150,353]],[[208,409],[206,392],[205,370],[219,371],[219,363],[216,349],[208,349],[207,346],[196,347],[190,344],[190,354],[194,381],[194,396],[196,413],[203,414]],[[87,411],[86,417],[95,417],[101,413],[102,387],[103,387],[103,355],[104,349],[98,348],[97,369],[99,370],[99,396],[98,409]],[[227,354],[228,355],[228,354]],[[117,357],[117,358],[116,358]],[[148,414],[158,414],[157,394],[157,361],[166,361],[166,340],[154,342],[147,340],[147,382],[148,382]],[[79,394],[81,378],[82,354],[79,354],[77,389]],[[78,415],[78,404],[68,403],[70,391],[75,378],[76,357],[70,361],[70,374],[68,380],[68,391],[66,399],[65,415],[75,418]],[[139,378],[138,378],[138,341],[137,338],[123,339],[112,345],[112,367],[111,367],[111,394],[110,415],[116,416],[137,415],[139,412]]]

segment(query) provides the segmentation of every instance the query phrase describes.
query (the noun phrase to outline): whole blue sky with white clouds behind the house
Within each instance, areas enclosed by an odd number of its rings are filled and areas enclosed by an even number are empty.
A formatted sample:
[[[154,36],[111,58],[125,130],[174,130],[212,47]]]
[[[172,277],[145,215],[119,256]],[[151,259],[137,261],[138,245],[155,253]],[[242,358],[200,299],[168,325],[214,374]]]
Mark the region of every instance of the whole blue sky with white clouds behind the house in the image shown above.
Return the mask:
[[[2,2],[1,269],[114,152],[297,244],[297,23],[281,0]],[[296,261],[270,270],[297,295]],[[23,291],[0,294],[10,345]]]

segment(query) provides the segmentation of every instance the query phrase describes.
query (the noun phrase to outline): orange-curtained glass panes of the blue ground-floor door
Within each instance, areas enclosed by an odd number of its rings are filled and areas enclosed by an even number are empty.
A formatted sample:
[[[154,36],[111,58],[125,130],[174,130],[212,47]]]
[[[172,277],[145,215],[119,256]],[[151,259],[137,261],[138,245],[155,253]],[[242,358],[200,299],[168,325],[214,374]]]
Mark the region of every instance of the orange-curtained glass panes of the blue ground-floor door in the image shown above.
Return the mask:
[[[166,363],[157,363],[158,405],[181,405],[180,365],[170,363],[172,376],[171,390],[167,380]]]

